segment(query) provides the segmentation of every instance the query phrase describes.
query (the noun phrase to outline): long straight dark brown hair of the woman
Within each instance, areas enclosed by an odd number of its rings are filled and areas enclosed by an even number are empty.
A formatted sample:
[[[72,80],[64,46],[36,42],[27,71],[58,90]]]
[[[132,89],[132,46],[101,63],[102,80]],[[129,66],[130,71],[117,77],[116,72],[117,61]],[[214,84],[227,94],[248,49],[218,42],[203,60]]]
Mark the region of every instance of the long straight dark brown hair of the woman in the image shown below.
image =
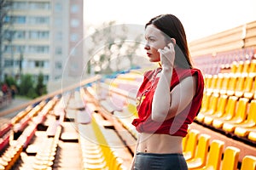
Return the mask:
[[[193,68],[186,33],[180,20],[173,14],[161,14],[149,20],[145,28],[154,25],[169,38],[176,40],[174,64],[182,68]]]

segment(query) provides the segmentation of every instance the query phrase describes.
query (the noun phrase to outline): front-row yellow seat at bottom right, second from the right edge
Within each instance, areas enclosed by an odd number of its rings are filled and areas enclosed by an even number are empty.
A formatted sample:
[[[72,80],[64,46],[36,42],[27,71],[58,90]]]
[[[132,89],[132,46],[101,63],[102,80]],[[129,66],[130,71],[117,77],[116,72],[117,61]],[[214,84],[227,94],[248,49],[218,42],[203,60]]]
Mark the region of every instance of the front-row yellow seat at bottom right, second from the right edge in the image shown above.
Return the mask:
[[[221,164],[221,169],[236,170],[239,160],[239,153],[240,149],[233,146],[228,146],[224,150],[224,158]]]

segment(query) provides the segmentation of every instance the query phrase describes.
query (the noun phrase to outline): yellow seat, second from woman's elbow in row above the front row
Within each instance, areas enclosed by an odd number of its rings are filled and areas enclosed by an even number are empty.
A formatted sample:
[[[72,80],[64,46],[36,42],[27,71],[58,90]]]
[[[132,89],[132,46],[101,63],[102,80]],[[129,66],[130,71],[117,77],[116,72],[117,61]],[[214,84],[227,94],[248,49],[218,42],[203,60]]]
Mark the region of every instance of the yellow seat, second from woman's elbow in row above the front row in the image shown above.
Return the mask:
[[[212,115],[205,116],[204,122],[208,125],[212,124],[212,121],[215,117],[220,117],[224,114],[225,107],[228,101],[227,95],[221,95],[218,99],[218,108]]]

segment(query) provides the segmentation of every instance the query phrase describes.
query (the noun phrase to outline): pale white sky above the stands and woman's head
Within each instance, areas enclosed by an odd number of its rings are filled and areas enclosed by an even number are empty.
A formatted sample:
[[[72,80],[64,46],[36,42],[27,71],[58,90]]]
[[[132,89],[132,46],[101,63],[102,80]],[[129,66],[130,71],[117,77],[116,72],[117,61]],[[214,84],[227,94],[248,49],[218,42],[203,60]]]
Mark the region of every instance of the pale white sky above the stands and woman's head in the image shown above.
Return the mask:
[[[256,20],[256,0],[84,0],[84,26],[144,26],[159,14],[174,14],[183,23],[188,42]]]

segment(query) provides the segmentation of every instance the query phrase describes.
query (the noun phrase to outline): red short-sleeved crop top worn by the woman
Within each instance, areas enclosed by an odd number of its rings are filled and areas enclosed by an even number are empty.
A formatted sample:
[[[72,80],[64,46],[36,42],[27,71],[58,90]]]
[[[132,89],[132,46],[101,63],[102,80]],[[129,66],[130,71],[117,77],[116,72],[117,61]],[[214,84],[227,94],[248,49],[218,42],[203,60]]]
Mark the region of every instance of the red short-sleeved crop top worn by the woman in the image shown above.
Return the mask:
[[[201,99],[203,97],[204,80],[201,71],[198,69],[175,68],[172,71],[171,90],[183,78],[197,75],[196,93],[190,104],[177,116],[172,117],[164,122],[154,122],[151,119],[152,100],[159,77],[158,73],[161,68],[153,71],[146,71],[144,80],[137,93],[137,113],[138,118],[131,123],[139,133],[164,133],[173,136],[186,136],[188,126],[191,124],[200,111]],[[171,91],[170,90],[170,91]]]

